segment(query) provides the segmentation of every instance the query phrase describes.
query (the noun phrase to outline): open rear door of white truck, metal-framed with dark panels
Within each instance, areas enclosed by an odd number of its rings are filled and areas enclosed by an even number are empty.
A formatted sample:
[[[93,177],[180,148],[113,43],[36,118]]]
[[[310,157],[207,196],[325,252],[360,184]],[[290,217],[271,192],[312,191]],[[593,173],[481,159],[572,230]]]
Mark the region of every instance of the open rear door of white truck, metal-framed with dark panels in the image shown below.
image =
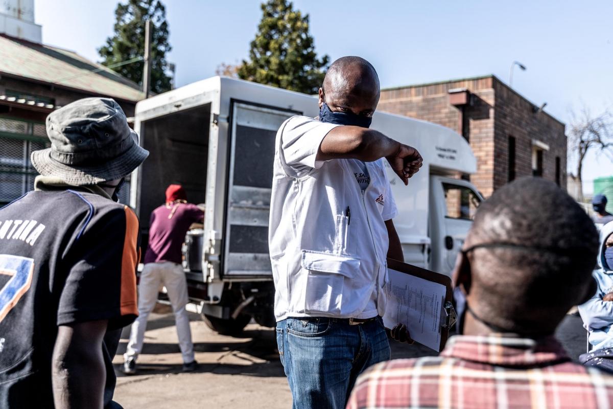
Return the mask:
[[[224,232],[224,278],[272,278],[268,216],[275,137],[297,112],[232,102]]]

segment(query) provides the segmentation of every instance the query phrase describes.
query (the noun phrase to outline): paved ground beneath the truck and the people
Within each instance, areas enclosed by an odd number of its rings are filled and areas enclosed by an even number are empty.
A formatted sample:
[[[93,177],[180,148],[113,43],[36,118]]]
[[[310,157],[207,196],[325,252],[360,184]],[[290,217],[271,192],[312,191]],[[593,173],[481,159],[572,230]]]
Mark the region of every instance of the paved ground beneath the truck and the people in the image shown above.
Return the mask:
[[[249,324],[240,338],[224,337],[191,314],[191,329],[200,363],[197,372],[181,373],[172,314],[151,315],[145,346],[139,357],[139,373],[127,377],[120,371],[129,330],[122,335],[113,361],[118,376],[115,400],[124,408],[245,408],[288,409],[291,394],[276,353],[274,329]],[[558,339],[576,359],[585,351],[581,318],[566,316]],[[436,355],[424,346],[392,342],[392,358]]]

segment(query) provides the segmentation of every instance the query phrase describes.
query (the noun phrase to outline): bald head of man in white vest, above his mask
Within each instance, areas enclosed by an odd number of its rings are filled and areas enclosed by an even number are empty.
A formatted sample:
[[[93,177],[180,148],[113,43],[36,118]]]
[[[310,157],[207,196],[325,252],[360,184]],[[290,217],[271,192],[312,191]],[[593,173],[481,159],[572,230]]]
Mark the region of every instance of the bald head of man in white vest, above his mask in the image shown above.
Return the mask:
[[[371,117],[379,102],[379,76],[368,61],[357,56],[334,61],[319,88],[319,107],[326,102],[332,112],[352,112]]]

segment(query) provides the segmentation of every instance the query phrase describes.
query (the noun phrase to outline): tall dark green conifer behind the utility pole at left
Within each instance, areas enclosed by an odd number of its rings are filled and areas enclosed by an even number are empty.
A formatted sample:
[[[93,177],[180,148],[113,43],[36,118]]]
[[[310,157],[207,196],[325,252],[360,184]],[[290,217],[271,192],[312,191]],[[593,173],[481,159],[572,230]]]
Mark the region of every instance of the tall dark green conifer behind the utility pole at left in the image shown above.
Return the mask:
[[[168,42],[166,8],[159,0],[128,0],[115,9],[115,34],[98,48],[101,64],[110,66],[145,55],[145,21],[151,20],[151,91],[159,94],[170,90],[170,77],[166,75]],[[142,85],[143,61],[113,68],[129,80]]]

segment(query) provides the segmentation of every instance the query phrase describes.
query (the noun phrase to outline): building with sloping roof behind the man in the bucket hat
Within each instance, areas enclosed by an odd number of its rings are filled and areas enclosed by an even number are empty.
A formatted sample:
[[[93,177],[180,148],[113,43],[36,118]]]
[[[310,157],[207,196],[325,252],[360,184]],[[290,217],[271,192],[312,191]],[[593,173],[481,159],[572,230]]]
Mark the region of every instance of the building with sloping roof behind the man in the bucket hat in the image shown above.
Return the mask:
[[[144,97],[137,84],[100,64],[42,44],[33,6],[32,0],[20,0],[0,7],[0,205],[32,189],[37,172],[29,157],[49,146],[45,118],[50,112],[102,96],[115,99],[132,117]]]

